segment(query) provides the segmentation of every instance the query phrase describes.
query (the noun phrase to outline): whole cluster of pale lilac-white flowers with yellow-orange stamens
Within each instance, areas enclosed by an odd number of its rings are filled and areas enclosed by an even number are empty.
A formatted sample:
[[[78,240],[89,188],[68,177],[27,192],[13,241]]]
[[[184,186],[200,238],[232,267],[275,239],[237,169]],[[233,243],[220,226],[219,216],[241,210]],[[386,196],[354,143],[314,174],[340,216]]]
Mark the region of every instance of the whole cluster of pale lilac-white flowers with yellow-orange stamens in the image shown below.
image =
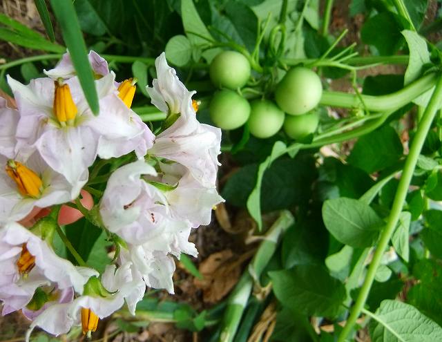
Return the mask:
[[[134,314],[146,286],[173,294],[173,256],[198,254],[191,229],[208,225],[222,202],[215,188],[220,129],[198,122],[194,92],[164,53],[147,88],[167,115],[155,135],[131,110],[136,80],[118,83],[102,57],[88,57],[97,116],[68,53],[28,85],[8,76],[17,106],[0,99],[0,301],[3,315],[21,310],[32,321],[28,338],[34,327],[58,335],[80,324],[90,334],[124,303]],[[73,220],[61,213],[90,198],[83,188],[97,173],[89,167],[110,158],[120,167],[95,194],[93,222],[112,237],[115,258],[99,274],[81,258],[73,265],[59,256],[52,237],[66,238],[59,224]]]

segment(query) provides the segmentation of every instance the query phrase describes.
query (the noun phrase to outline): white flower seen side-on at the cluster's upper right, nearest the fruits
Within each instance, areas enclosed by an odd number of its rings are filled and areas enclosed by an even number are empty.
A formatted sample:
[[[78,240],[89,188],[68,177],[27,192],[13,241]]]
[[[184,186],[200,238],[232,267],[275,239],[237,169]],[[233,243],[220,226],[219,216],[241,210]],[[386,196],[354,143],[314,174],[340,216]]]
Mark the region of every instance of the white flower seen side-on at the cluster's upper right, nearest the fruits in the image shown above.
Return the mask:
[[[151,155],[179,162],[187,167],[193,178],[204,186],[214,186],[218,171],[221,130],[200,124],[192,106],[192,95],[167,65],[164,53],[155,61],[157,79],[147,88],[152,103],[169,114],[179,113],[177,120],[157,135]]]

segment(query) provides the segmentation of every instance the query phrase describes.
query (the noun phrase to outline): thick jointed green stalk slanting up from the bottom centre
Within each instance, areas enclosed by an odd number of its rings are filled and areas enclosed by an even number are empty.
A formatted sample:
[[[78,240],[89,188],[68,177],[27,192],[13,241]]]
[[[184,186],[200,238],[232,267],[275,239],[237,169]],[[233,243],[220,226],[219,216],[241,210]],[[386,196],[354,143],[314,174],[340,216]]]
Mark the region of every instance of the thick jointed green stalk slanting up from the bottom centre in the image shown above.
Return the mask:
[[[244,272],[240,278],[235,289],[231,292],[227,308],[222,320],[222,331],[220,335],[220,342],[231,342],[235,337],[236,330],[241,321],[242,314],[253,287],[253,279],[258,280],[262,271],[269,263],[271,256],[278,247],[278,240],[280,236],[294,223],[294,218],[290,211],[282,211],[278,220],[271,226],[267,232],[264,240],[258,247],[255,256],[249,264],[249,272]]]

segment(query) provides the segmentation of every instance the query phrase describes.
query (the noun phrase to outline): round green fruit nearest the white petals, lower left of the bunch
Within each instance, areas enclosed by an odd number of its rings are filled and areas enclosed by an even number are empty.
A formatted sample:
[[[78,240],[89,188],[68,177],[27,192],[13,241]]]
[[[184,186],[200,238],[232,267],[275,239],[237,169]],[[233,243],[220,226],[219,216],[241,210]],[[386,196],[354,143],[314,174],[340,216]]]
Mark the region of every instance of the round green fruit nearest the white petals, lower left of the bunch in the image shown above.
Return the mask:
[[[249,119],[250,104],[238,93],[224,89],[215,93],[209,111],[213,123],[220,129],[238,129]]]

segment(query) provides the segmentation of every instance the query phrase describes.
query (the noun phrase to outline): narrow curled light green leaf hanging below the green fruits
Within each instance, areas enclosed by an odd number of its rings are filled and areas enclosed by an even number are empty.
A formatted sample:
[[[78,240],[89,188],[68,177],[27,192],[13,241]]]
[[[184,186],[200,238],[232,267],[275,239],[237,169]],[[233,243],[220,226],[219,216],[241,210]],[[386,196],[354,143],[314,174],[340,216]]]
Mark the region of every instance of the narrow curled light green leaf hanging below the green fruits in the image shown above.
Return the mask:
[[[271,149],[271,153],[267,159],[260,164],[258,167],[258,173],[256,174],[256,185],[251,191],[249,198],[247,198],[247,209],[249,210],[250,216],[253,220],[258,224],[258,229],[262,228],[262,220],[261,220],[261,185],[262,185],[262,177],[264,176],[265,171],[270,167],[273,160],[280,157],[287,151],[287,146],[280,141],[275,142],[273,144],[273,149]]]

